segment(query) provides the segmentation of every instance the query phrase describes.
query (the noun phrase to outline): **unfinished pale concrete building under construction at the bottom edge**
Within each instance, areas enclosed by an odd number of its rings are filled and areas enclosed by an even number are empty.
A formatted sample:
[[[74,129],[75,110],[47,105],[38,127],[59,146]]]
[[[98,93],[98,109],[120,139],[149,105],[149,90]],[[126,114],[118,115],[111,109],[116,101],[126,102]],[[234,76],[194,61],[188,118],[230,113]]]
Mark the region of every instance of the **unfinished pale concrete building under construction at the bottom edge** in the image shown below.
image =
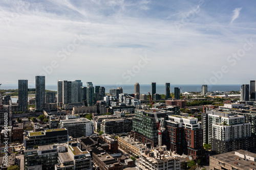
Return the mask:
[[[161,147],[140,153],[136,167],[138,170],[183,169],[186,167],[185,164],[185,160],[180,155],[166,151],[166,147]]]

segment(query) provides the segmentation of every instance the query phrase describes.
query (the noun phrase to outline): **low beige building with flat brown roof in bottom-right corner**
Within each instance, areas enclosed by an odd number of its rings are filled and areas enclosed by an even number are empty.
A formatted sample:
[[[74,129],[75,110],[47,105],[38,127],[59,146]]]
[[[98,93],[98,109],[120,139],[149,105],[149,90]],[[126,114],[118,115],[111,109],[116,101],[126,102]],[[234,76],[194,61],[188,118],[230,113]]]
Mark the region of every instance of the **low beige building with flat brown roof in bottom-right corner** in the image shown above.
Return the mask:
[[[210,170],[253,170],[256,169],[256,154],[238,150],[210,156]]]

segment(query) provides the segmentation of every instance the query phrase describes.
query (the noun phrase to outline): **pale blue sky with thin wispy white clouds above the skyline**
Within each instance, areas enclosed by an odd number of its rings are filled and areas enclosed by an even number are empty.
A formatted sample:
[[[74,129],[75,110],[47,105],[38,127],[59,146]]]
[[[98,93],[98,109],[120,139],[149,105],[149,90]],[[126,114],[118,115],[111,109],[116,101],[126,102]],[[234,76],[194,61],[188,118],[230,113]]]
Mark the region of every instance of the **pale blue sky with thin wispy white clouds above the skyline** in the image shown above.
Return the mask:
[[[249,84],[256,1],[0,1],[0,83]]]

